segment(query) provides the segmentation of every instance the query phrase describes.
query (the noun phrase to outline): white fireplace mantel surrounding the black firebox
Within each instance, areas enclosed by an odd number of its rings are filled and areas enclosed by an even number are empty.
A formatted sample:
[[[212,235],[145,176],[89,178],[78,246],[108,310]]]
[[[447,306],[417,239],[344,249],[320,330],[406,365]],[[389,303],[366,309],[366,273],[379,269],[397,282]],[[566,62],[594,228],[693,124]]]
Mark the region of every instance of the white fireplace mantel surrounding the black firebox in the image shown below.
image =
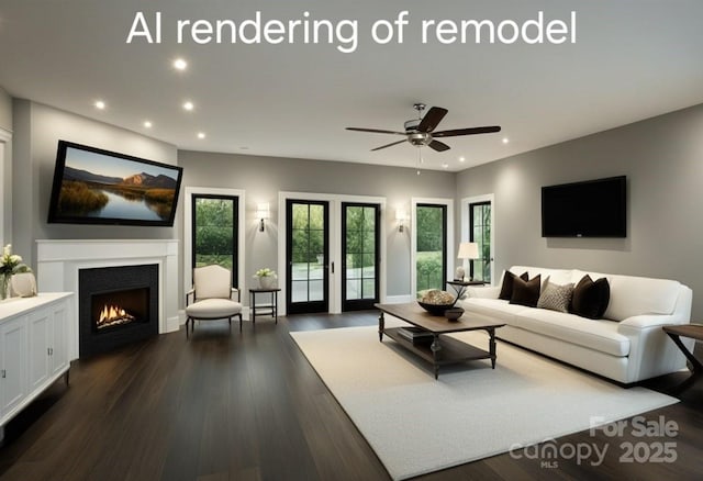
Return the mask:
[[[159,266],[158,332],[178,331],[178,240],[71,239],[36,242],[36,278],[41,292],[78,292],[78,271],[98,267]],[[70,359],[78,358],[78,295],[76,321],[69,323]]]

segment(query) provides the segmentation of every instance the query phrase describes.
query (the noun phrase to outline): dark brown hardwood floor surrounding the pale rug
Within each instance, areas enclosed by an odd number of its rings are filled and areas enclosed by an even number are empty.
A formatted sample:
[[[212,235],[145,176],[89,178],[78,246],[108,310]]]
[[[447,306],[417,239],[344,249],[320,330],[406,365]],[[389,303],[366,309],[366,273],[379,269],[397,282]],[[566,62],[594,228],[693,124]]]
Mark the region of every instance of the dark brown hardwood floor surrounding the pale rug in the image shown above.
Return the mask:
[[[70,387],[58,381],[5,426],[0,479],[388,480],[289,336],[376,323],[372,312],[299,315],[280,317],[278,325],[245,323],[242,334],[237,327],[231,335],[226,323],[201,323],[190,340],[181,331],[75,361]],[[683,379],[673,374],[647,387],[667,390]],[[703,381],[681,399],[645,415],[676,423],[672,437],[637,437],[631,423],[622,437],[585,432],[559,438],[561,455],[554,459],[505,454],[417,479],[701,479]],[[657,443],[674,443],[676,461],[621,462],[627,443],[640,443],[640,458]],[[607,449],[602,463],[570,456],[571,447],[587,446]]]

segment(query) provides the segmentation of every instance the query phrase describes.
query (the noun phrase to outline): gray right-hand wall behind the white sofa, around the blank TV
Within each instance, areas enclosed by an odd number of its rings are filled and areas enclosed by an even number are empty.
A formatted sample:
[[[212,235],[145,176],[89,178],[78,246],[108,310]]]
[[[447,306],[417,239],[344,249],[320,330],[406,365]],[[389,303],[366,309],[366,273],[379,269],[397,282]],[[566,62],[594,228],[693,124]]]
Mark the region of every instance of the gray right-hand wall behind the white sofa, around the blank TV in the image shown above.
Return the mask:
[[[627,176],[627,238],[543,238],[540,188]],[[495,271],[535,265],[659,277],[703,316],[703,105],[475,167],[457,198],[494,193]]]

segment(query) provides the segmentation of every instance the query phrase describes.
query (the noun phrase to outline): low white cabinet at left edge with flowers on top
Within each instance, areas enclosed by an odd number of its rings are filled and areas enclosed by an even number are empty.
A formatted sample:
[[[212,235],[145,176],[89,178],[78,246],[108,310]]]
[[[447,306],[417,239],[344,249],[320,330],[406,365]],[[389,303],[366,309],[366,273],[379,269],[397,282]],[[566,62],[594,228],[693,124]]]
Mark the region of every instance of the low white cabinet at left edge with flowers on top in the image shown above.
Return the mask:
[[[68,380],[72,293],[0,302],[0,439],[2,426],[63,374]]]

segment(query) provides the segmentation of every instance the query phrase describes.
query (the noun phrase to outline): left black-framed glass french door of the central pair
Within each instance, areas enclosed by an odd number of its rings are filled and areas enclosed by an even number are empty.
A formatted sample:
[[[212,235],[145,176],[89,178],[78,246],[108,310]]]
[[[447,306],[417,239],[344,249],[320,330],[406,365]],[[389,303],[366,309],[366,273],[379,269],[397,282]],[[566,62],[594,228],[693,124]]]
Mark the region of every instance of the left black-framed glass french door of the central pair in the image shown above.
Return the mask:
[[[330,203],[286,201],[287,312],[330,309]]]

